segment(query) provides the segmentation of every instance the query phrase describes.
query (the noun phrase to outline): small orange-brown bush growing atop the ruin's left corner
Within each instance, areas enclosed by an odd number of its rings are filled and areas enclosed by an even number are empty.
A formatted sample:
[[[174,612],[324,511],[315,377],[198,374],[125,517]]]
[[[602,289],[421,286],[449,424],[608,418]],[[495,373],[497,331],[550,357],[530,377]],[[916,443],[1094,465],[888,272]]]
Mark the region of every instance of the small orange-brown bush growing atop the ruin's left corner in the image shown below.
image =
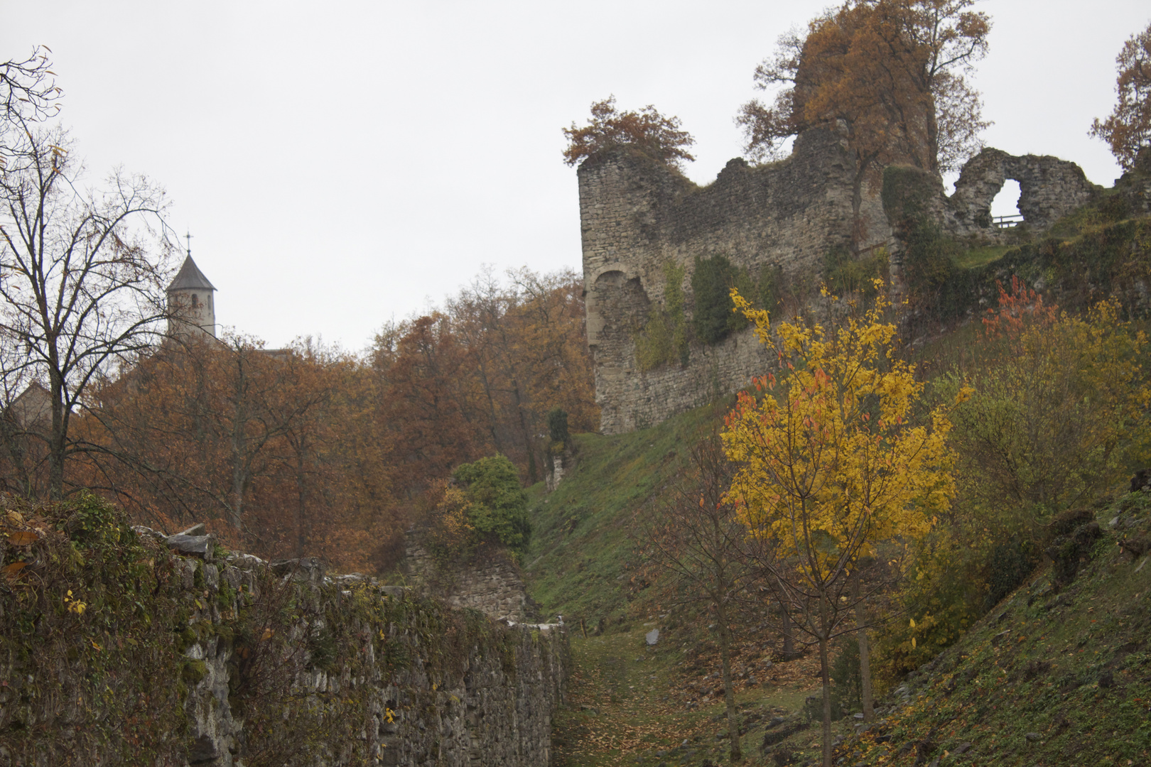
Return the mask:
[[[615,146],[632,146],[672,168],[694,160],[686,147],[695,144],[691,133],[679,129],[679,117],[664,117],[650,103],[639,112],[618,112],[616,97],[592,105],[592,118],[584,128],[564,128],[567,148],[564,162],[574,166]]]

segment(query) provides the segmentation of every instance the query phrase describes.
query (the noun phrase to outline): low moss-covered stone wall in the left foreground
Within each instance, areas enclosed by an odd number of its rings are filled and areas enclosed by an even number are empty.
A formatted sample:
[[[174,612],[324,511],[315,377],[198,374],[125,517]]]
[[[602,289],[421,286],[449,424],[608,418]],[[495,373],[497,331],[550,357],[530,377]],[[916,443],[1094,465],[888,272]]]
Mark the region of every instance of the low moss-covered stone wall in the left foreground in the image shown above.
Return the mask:
[[[551,764],[562,627],[142,532],[128,586],[102,570],[0,589],[0,766]],[[36,545],[73,545],[53,535]]]

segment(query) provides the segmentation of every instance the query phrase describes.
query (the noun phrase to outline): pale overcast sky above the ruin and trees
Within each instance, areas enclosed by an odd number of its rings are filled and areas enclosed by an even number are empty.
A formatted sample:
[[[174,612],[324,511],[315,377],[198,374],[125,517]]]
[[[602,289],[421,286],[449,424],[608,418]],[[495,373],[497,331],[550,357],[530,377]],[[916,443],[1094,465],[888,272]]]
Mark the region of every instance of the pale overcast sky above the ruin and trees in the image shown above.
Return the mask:
[[[696,139],[687,175],[712,181],[740,154],[755,64],[826,5],[0,0],[0,60],[52,48],[91,178],[122,166],[167,189],[218,322],[358,350],[483,263],[580,270],[561,129],[595,100],[678,115]],[[977,7],[993,23],[986,143],[1111,185],[1087,130],[1146,0]]]

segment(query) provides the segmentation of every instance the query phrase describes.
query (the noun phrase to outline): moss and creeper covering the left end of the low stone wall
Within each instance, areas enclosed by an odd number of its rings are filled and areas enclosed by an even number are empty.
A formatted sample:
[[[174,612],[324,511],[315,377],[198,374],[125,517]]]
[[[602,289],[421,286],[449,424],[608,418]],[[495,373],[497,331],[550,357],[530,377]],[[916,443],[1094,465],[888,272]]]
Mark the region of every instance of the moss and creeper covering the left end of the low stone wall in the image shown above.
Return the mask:
[[[178,764],[196,669],[177,563],[90,494],[8,500],[0,527],[0,757]]]

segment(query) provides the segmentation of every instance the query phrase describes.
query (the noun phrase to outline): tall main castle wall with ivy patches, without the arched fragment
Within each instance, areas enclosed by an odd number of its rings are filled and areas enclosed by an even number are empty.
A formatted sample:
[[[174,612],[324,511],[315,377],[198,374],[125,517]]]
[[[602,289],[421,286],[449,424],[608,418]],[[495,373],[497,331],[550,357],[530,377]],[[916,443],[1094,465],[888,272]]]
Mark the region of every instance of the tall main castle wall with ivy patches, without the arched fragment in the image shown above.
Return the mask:
[[[732,160],[699,187],[639,153],[618,149],[579,169],[588,345],[601,430],[619,434],[730,393],[770,360],[750,331],[715,346],[693,343],[686,366],[642,371],[635,335],[665,300],[663,264],[685,267],[687,317],[696,258],[724,255],[757,275],[810,281],[830,251],[851,243],[854,161],[843,137],[809,131],[790,158],[762,167]],[[864,243],[891,229],[878,190],[864,184]]]

